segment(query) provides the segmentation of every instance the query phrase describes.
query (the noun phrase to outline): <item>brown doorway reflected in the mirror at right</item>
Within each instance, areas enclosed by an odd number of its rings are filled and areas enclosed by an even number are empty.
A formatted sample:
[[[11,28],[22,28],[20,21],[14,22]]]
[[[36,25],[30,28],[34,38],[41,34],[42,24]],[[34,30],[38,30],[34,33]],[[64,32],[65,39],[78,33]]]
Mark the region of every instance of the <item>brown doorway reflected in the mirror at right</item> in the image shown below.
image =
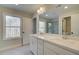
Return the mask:
[[[71,34],[71,17],[64,17],[62,20],[62,34]]]

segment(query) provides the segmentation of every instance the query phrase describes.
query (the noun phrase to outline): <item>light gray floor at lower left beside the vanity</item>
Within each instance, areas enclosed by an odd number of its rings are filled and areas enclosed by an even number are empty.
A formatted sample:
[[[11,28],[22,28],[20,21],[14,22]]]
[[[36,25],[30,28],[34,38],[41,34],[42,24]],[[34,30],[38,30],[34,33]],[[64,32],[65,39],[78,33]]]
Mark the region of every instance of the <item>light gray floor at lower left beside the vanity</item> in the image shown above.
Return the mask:
[[[32,53],[29,46],[22,46],[0,52],[0,55],[32,55]]]

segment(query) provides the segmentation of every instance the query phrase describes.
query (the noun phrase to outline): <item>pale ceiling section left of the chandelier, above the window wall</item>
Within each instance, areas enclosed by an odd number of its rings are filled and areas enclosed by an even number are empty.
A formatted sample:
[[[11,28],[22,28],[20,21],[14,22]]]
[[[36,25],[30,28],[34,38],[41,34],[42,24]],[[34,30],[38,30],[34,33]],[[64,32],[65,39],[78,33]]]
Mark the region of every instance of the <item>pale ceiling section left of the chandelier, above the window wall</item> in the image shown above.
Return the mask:
[[[41,4],[0,4],[0,6],[16,9],[32,15],[41,6]]]

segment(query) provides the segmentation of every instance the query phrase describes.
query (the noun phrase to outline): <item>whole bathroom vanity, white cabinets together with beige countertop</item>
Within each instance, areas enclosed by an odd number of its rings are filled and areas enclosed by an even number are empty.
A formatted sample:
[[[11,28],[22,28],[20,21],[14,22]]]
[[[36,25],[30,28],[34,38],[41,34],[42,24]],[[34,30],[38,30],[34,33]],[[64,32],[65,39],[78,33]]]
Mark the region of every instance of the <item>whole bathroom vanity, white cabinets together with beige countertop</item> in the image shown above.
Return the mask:
[[[33,34],[30,50],[35,55],[76,55],[79,54],[79,40],[57,34]]]

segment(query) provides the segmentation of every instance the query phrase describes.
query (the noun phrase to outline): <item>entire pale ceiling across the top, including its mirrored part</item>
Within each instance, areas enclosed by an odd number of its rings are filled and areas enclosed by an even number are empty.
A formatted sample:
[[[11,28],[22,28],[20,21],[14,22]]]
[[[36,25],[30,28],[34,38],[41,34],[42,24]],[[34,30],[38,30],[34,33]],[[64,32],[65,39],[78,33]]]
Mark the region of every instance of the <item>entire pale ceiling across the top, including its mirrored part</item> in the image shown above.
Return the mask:
[[[0,6],[16,9],[30,15],[33,15],[40,7],[45,7],[46,12],[41,16],[49,19],[57,18],[61,13],[79,10],[79,4],[2,4]],[[68,8],[64,9],[65,6],[68,6]]]

